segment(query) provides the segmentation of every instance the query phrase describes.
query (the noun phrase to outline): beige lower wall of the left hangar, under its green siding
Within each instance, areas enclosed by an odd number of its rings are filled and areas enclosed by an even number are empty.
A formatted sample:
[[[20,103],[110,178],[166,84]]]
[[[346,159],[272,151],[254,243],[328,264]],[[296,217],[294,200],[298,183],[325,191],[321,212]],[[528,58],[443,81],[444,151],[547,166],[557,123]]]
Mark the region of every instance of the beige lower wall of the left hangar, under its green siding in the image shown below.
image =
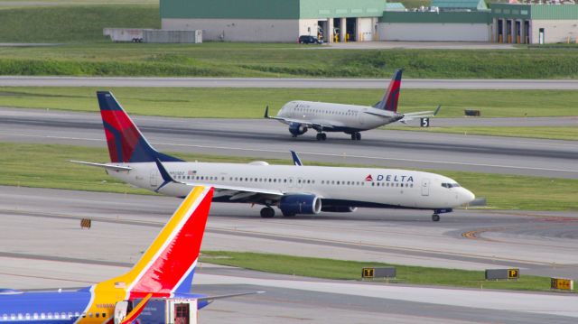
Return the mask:
[[[312,34],[317,32],[317,20],[314,22]],[[204,41],[225,42],[296,42],[302,28],[299,20],[290,19],[166,18],[162,25],[168,30],[202,30]]]

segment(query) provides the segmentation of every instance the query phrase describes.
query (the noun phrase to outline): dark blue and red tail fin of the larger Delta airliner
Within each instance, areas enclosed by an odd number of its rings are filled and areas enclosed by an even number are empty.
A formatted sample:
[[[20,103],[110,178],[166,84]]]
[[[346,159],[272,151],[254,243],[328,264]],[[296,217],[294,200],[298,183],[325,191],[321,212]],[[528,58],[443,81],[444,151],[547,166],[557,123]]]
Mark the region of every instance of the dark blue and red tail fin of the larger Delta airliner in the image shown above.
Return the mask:
[[[97,97],[110,162],[182,162],[154,150],[111,92],[98,91]]]

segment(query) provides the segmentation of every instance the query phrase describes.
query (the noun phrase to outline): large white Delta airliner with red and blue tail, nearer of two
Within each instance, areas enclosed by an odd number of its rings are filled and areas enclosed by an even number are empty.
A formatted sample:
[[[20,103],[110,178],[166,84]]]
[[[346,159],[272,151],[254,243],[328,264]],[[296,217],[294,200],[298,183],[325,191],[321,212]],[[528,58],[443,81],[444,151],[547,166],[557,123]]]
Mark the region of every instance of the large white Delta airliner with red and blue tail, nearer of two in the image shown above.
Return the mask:
[[[433,221],[474,199],[471,191],[443,175],[303,166],[296,154],[295,165],[184,162],[155,151],[110,92],[97,96],[111,162],[73,162],[104,168],[121,181],[163,195],[184,197],[191,187],[210,186],[215,188],[213,201],[263,205],[262,218],[275,216],[272,207],[285,217],[366,207],[430,209]]]

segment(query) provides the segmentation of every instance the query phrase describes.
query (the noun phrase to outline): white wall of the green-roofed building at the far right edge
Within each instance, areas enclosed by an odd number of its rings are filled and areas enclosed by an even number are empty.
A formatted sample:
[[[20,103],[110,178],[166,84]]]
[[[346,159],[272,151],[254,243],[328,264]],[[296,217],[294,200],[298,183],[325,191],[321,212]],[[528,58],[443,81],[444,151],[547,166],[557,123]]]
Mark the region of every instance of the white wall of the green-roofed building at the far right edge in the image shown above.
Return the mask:
[[[578,39],[578,23],[574,20],[532,20],[530,22],[530,42],[539,43],[540,28],[544,28],[545,43],[575,42]]]

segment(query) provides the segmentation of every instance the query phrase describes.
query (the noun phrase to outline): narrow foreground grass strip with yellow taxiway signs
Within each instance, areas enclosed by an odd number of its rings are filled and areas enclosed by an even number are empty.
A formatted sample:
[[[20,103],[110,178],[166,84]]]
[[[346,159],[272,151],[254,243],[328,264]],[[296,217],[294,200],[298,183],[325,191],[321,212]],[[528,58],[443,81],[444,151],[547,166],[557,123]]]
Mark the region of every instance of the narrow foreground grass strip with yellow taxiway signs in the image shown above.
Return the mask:
[[[396,266],[396,279],[390,281],[392,283],[524,291],[550,290],[550,278],[524,275],[523,273],[518,281],[487,282],[484,280],[484,272],[482,271],[228,251],[202,251],[200,261],[237,266],[266,273],[340,280],[360,280],[363,267]]]

